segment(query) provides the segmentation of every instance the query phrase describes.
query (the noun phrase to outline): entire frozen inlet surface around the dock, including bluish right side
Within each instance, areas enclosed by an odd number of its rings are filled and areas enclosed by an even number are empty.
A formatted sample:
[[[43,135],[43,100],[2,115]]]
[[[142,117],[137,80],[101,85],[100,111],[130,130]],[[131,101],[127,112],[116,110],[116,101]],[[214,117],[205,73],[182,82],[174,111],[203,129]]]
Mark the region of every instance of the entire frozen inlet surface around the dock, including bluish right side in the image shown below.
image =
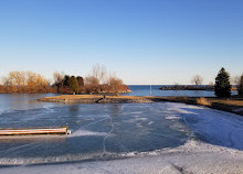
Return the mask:
[[[0,95],[0,128],[68,123],[72,134],[1,138],[0,165],[136,156],[179,146],[191,138],[243,150],[243,120],[236,115],[172,102],[64,105],[36,101],[44,96],[54,94]]]

